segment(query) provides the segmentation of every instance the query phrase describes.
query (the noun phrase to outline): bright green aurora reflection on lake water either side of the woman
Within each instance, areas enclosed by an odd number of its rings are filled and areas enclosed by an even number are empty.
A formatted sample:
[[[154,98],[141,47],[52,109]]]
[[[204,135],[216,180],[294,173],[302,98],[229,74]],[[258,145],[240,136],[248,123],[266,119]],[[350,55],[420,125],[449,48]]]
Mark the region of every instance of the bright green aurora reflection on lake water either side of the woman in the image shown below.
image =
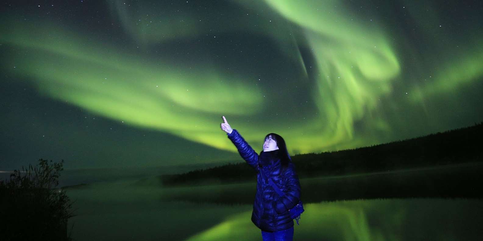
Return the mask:
[[[360,200],[306,205],[295,239],[304,241],[479,240],[482,201]],[[251,212],[192,236],[188,241],[260,240]]]

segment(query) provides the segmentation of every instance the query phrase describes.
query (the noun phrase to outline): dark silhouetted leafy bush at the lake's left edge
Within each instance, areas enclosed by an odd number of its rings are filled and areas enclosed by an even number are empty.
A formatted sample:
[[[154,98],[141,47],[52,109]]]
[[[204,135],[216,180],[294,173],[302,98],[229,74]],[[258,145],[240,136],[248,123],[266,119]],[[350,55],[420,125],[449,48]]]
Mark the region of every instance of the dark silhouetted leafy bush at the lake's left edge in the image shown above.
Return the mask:
[[[65,191],[54,189],[63,162],[40,159],[35,167],[14,170],[10,181],[0,180],[1,240],[71,240],[72,202]]]

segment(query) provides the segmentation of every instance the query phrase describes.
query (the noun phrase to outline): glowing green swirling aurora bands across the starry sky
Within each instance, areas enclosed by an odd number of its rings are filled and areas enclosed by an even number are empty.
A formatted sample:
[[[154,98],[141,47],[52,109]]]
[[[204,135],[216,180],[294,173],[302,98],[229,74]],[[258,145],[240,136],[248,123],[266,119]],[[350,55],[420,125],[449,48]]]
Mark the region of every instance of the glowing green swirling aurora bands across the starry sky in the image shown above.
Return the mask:
[[[393,123],[398,117],[391,113],[388,117],[383,111],[384,100],[391,100],[387,106],[424,107],[428,98],[451,94],[481,80],[483,75],[483,61],[479,61],[483,51],[470,45],[465,52],[458,52],[457,59],[443,54],[439,57],[442,63],[422,62],[433,73],[430,80],[408,83],[402,92],[411,92],[409,99],[399,95],[391,99],[394,86],[409,75],[402,72],[403,50],[395,48],[395,41],[381,21],[374,19],[368,24],[342,5],[334,10],[331,6],[337,1],[233,4],[252,7],[250,11],[264,12],[266,16],[257,24],[247,21],[240,25],[241,29],[226,24],[220,26],[220,31],[255,33],[277,42],[290,63],[297,63],[292,66],[299,76],[293,80],[295,84],[312,91],[310,99],[316,108],[306,118],[275,119],[271,124],[257,118],[273,99],[264,97],[266,86],[255,84],[255,74],[229,71],[209,60],[196,66],[173,65],[169,55],[159,53],[159,59],[152,59],[105,43],[94,35],[52,27],[49,21],[28,25],[3,17],[1,44],[16,48],[8,56],[16,68],[3,68],[29,80],[41,94],[128,125],[234,151],[229,140],[220,135],[218,126],[225,115],[252,146],[261,146],[262,135],[275,132],[284,136],[292,154],[394,140],[384,134],[398,128],[399,124]],[[213,20],[198,21],[201,17],[189,11],[173,17],[156,15],[148,4],[139,3],[140,11],[123,5],[120,1],[110,3],[113,18],[144,49],[173,40],[196,40],[213,24]],[[157,21],[138,25],[135,19],[144,15]],[[144,17],[142,21],[149,19]],[[313,63],[304,61],[299,48],[311,50]],[[422,72],[412,78],[429,79]],[[294,107],[297,105],[287,106],[283,112],[295,116]],[[356,123],[363,123],[360,130],[355,128]]]

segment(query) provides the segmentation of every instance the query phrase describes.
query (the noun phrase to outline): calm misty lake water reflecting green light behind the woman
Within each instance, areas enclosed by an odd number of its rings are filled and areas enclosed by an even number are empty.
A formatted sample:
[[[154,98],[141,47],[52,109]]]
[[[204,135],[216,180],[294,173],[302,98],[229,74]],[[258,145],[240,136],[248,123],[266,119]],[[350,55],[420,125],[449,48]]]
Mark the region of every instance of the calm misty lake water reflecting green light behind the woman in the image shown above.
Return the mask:
[[[126,178],[68,188],[67,194],[77,209],[76,216],[69,220],[69,230],[73,225],[71,238],[78,241],[261,240],[260,230],[250,220],[252,204],[196,201],[197,193],[220,188],[234,192],[248,188],[253,191],[246,191],[246,199],[253,200],[254,183],[176,188],[163,188],[145,180],[141,183],[139,178]],[[303,188],[303,191],[321,190]],[[170,196],[190,194],[191,201],[170,199]],[[300,226],[295,225],[294,240],[480,240],[483,237],[481,199],[321,201],[305,203],[304,207]]]

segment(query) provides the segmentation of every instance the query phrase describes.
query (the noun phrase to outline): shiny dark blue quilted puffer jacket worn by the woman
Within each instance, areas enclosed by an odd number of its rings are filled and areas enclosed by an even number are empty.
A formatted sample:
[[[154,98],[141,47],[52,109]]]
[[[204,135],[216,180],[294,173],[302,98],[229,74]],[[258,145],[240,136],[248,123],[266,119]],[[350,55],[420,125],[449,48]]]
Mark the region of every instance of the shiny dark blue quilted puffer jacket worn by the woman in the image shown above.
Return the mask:
[[[258,155],[237,130],[228,134],[228,138],[235,144],[240,156],[257,171],[252,222],[256,227],[268,232],[293,227],[294,221],[288,210],[297,205],[300,198],[300,184],[294,164],[290,161],[288,167],[282,168],[280,159],[275,155],[278,150],[262,152]],[[268,179],[263,178],[260,173],[263,169],[282,190],[283,197],[277,194]]]

